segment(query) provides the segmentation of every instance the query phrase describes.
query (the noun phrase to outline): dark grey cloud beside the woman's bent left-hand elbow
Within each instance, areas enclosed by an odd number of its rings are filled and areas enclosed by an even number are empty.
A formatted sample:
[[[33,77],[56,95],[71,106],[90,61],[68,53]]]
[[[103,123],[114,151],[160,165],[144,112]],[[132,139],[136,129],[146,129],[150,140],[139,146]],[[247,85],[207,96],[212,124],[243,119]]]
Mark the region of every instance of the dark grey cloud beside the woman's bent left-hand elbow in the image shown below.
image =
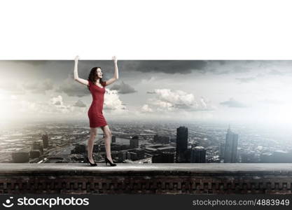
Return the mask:
[[[64,92],[70,97],[83,97],[90,94],[88,87],[76,82],[72,75],[69,75],[55,91]]]

